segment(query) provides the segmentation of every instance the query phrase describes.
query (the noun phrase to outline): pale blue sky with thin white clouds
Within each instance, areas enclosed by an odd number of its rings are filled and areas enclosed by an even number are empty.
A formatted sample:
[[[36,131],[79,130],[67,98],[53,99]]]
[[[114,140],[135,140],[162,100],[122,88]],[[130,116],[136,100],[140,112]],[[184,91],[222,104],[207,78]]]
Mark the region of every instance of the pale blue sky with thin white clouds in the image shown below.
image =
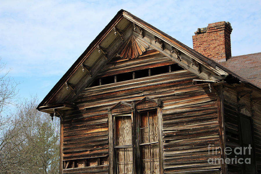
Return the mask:
[[[121,9],[191,48],[197,28],[229,21],[232,56],[261,52],[260,0],[0,0],[0,63],[19,96],[44,99]]]

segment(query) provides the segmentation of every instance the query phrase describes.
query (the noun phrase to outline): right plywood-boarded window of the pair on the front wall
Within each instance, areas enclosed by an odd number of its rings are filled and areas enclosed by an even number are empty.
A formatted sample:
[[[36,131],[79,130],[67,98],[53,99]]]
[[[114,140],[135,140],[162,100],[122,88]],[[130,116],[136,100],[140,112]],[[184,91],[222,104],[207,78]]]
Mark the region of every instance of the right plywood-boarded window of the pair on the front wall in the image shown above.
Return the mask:
[[[142,112],[139,118],[141,173],[160,173],[157,112]]]

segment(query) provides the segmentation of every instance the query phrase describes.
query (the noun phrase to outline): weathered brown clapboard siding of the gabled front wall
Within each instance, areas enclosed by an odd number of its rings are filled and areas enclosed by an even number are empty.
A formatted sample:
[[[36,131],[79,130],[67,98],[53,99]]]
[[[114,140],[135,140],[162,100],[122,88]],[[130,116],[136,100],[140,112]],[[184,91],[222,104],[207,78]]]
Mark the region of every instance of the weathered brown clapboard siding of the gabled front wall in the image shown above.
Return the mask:
[[[113,60],[98,76],[173,63],[158,52],[147,52],[136,59]],[[150,97],[163,101],[164,173],[220,173],[220,164],[208,164],[209,158],[220,158],[216,93],[194,86],[193,79],[198,77],[179,70],[86,88],[74,101],[78,108],[65,113],[63,160],[108,157],[108,108],[119,101],[130,104]],[[108,165],[63,169],[63,173],[108,173]]]

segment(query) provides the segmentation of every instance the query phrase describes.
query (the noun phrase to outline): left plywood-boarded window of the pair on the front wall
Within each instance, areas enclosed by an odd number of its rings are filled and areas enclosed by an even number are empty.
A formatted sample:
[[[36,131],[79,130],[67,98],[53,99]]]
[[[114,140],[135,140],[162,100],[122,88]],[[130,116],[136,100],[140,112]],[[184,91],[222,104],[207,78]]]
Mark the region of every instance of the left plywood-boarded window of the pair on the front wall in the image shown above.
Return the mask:
[[[132,173],[132,120],[131,115],[115,116],[116,173]]]

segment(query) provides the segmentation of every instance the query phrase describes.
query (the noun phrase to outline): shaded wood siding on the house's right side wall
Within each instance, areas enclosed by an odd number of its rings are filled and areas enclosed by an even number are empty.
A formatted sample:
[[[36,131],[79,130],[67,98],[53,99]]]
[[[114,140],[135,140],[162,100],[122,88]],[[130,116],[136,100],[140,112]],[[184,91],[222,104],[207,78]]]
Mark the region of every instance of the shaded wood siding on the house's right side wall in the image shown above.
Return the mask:
[[[257,173],[261,173],[261,105],[258,103],[251,104],[251,96],[245,95],[242,98],[238,98],[239,89],[224,88],[224,116],[225,116],[225,130],[226,130],[226,147],[240,147],[240,124],[239,115],[240,107],[246,107],[252,110],[253,114],[251,119],[253,121],[253,143],[255,150],[255,164],[257,168]],[[252,96],[254,97],[254,96]],[[240,155],[236,155],[240,158]],[[235,153],[227,155],[227,158],[235,157]],[[251,159],[253,160],[253,159]],[[253,162],[253,161],[251,161]],[[228,173],[238,174],[243,170],[243,166],[240,164],[228,164]]]

